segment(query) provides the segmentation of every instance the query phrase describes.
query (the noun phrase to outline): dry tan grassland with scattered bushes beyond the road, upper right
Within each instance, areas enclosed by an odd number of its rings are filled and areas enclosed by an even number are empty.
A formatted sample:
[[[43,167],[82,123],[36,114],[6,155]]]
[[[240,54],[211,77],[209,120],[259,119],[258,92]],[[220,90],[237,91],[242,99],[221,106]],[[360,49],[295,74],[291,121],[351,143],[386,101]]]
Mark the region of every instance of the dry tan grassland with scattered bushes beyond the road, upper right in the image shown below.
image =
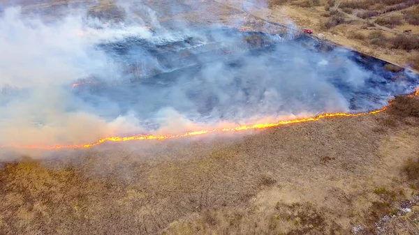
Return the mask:
[[[233,0],[232,0],[233,1]],[[268,0],[253,13],[271,21],[291,19],[335,43],[399,66],[419,70],[419,1]]]

